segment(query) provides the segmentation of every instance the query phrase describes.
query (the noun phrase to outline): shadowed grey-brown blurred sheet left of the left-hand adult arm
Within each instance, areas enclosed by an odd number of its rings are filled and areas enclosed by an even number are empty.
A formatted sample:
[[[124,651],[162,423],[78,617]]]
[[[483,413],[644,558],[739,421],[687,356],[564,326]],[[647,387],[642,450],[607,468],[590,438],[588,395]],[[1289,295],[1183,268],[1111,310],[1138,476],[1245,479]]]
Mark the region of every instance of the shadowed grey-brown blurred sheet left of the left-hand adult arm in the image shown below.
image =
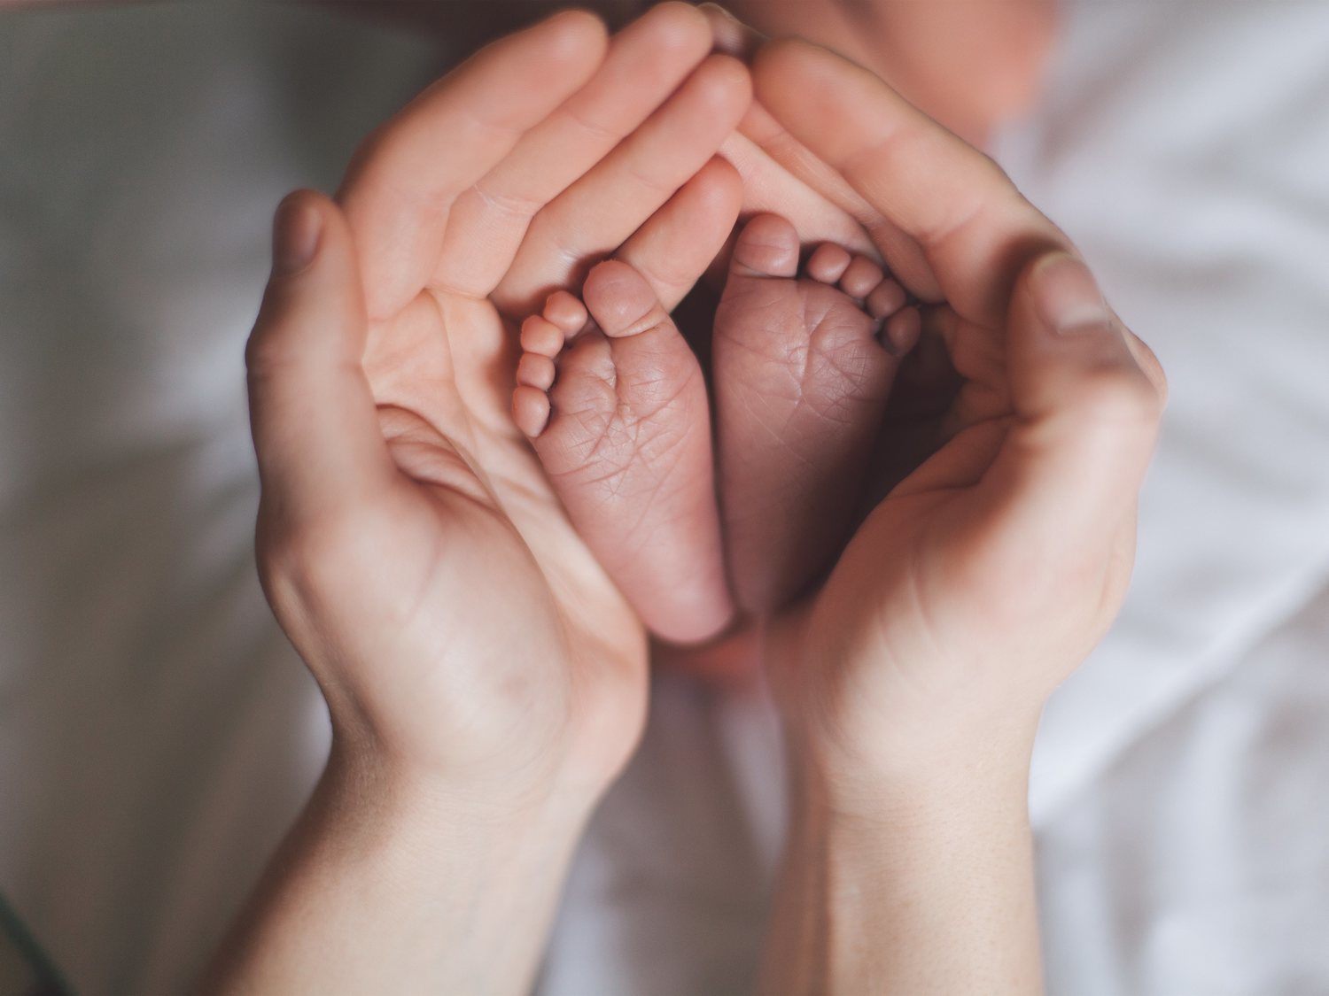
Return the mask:
[[[243,344],[278,199],[440,61],[300,8],[0,13],[0,891],[80,992],[182,992],[320,766]]]

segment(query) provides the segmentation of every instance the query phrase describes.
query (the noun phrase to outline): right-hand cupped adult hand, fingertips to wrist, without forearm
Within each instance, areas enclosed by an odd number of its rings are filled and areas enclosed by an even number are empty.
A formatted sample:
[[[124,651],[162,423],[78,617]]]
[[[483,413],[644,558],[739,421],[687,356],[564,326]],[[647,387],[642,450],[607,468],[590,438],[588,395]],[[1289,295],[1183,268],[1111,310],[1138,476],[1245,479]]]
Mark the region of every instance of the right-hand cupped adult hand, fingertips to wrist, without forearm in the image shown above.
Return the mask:
[[[754,77],[766,147],[859,216],[960,380],[930,413],[937,452],[773,624],[785,720],[844,780],[1003,737],[1027,750],[1124,596],[1162,371],[1067,238],[874,76],[775,42]],[[886,426],[884,461],[909,428]]]

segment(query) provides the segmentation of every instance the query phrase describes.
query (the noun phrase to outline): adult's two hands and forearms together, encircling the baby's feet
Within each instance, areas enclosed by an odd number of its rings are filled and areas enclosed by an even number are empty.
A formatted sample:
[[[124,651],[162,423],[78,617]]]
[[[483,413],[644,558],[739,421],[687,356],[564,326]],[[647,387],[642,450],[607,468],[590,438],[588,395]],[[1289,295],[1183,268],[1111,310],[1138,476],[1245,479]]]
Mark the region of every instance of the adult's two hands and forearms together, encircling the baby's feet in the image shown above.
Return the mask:
[[[641,627],[506,413],[514,335],[489,295],[513,271],[512,300],[545,286],[521,260],[540,226],[484,238],[490,206],[557,212],[597,169],[579,116],[556,112],[605,44],[583,15],[501,42],[371,139],[340,208],[302,194],[279,214],[247,357],[260,574],[324,689],[334,750],[213,991],[525,989],[567,855],[639,736]],[[703,169],[702,118],[742,114],[746,93],[710,65],[691,78],[710,74],[712,98],[678,134],[719,197],[734,174]],[[945,446],[772,624],[801,805],[768,988],[1037,989],[1029,742],[1124,590],[1162,373],[990,162],[821,50],[768,46],[755,73],[766,110],[746,141],[945,301],[930,315],[965,377],[936,418]],[[623,134],[653,113],[625,114]],[[562,149],[558,175],[546,157],[500,169],[524,142]],[[496,171],[493,197],[455,210]],[[683,194],[639,193],[642,219],[664,220],[621,254],[667,274],[688,252],[670,212]],[[611,243],[615,219],[587,216]],[[492,270],[441,266],[449,238]]]

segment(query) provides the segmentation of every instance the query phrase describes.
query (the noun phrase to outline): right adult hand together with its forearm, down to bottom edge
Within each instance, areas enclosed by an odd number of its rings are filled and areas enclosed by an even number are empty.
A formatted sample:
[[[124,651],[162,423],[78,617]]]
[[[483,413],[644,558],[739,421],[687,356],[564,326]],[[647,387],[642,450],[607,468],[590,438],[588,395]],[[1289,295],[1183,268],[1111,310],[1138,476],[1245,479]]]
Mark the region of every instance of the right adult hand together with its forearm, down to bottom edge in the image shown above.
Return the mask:
[[[1066,236],[874,76],[803,42],[754,76],[882,254],[924,260],[962,378],[940,450],[768,631],[796,788],[766,988],[1035,992],[1030,746],[1124,596],[1163,374]]]

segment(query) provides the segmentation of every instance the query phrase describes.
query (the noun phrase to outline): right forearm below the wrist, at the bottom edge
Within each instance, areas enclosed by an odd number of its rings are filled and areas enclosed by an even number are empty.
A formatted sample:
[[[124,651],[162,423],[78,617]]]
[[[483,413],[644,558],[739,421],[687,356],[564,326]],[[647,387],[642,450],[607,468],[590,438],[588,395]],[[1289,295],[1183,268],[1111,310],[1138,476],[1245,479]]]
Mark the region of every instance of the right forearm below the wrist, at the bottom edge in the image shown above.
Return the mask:
[[[1027,748],[856,784],[796,760],[763,971],[793,993],[1035,993]]]

